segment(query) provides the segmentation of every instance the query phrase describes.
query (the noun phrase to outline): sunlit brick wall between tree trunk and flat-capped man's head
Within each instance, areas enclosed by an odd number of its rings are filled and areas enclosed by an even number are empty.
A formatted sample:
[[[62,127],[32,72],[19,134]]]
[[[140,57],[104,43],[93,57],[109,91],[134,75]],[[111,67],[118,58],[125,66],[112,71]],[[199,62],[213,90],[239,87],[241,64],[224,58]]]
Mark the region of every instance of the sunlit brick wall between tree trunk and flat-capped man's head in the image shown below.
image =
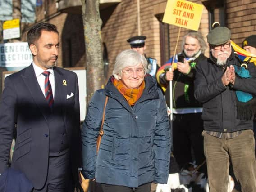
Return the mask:
[[[191,1],[201,3],[200,0]],[[166,2],[166,0],[140,0],[141,35],[147,36],[145,52],[147,56],[156,58],[160,65],[162,64],[160,63],[160,21],[157,15],[164,13]],[[173,55],[178,37],[178,27],[170,25],[169,31],[170,54]],[[181,40],[187,31],[187,29],[181,29],[177,52],[181,51]],[[199,31],[206,38],[208,34],[208,12],[206,9],[203,10]],[[109,75],[112,73],[116,55],[124,49],[129,49],[126,40],[136,35],[138,35],[137,0],[122,0],[102,28],[102,40],[107,45],[109,53]],[[208,53],[209,50],[206,51],[206,54]]]

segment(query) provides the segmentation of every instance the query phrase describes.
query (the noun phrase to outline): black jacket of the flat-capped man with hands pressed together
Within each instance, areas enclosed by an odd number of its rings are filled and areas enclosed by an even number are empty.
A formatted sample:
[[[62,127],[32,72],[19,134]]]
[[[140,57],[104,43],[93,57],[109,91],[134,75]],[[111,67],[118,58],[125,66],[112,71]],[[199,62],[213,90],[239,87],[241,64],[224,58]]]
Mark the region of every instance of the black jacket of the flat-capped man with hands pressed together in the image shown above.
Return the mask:
[[[238,65],[240,62],[232,49],[227,60],[227,66]],[[203,103],[202,119],[204,129],[217,132],[234,132],[244,129],[252,129],[252,120],[240,120],[237,118],[237,98],[235,91],[241,90],[250,94],[256,94],[256,69],[253,63],[249,63],[247,69],[251,79],[240,78],[236,75],[235,84],[224,86],[221,77],[225,67],[218,66],[216,59],[210,56],[207,63],[198,63],[196,66],[195,98]]]

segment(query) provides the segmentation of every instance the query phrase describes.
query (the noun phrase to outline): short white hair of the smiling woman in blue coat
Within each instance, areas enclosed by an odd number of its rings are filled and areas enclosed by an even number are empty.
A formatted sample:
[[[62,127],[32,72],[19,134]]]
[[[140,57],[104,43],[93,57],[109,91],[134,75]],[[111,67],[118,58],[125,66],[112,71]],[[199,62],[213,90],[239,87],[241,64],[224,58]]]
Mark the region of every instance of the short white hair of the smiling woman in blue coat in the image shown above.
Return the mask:
[[[119,53],[115,59],[113,75],[114,78],[119,80],[118,75],[121,76],[122,70],[127,67],[133,67],[139,63],[142,63],[143,69],[146,74],[147,60],[144,55],[139,54],[132,49],[124,50]]]

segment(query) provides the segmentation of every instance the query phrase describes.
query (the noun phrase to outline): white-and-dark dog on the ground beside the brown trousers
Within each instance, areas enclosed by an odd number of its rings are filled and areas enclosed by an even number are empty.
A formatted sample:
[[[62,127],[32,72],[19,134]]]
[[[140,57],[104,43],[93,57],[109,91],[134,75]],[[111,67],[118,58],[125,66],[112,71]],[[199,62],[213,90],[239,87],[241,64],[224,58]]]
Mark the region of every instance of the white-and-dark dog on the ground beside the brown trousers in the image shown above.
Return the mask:
[[[155,192],[171,192],[171,189],[184,188],[185,192],[191,192],[192,188],[187,189],[184,185],[191,182],[199,185],[205,192],[209,192],[208,179],[203,178],[204,174],[196,170],[197,165],[194,165],[190,170],[182,169],[180,173],[169,174],[167,184],[157,184]],[[227,192],[232,192],[234,188],[234,180],[229,175],[229,186]]]

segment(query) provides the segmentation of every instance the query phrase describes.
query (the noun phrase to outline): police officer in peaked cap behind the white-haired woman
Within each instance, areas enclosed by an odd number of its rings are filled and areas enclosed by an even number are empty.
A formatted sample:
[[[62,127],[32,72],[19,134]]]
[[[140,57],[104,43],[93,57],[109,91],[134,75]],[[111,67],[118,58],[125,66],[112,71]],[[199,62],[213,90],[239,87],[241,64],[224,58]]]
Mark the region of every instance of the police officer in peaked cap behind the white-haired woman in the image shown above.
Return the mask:
[[[127,42],[130,44],[131,49],[145,56],[148,63],[146,73],[150,74],[151,76],[155,76],[159,67],[155,58],[146,57],[146,54],[144,53],[146,50],[145,40],[146,36],[134,36],[128,39]]]

